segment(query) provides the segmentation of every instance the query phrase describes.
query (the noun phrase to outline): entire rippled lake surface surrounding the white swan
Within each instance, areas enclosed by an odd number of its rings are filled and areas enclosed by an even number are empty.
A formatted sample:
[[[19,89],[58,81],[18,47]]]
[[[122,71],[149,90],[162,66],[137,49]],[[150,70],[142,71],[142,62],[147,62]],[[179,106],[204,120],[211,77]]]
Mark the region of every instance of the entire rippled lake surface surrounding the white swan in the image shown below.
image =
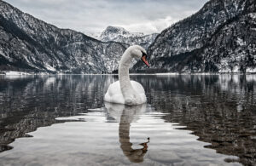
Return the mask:
[[[131,76],[148,104],[105,103],[115,76],[0,77],[0,165],[255,165],[256,76]]]

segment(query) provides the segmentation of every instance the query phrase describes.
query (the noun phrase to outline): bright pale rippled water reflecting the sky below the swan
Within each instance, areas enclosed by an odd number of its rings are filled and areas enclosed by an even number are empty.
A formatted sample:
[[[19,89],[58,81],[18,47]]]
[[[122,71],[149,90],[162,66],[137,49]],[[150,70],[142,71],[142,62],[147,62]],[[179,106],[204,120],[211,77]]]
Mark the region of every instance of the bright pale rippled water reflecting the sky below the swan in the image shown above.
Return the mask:
[[[191,131],[176,129],[177,123],[166,123],[164,114],[150,111],[146,106],[123,106],[113,112],[105,108],[57,117],[69,122],[39,128],[29,133],[32,138],[15,140],[10,145],[15,149],[0,153],[0,157],[3,164],[238,165],[224,162],[227,157],[237,157],[204,148],[209,144],[198,141]],[[108,123],[111,116],[115,123]],[[147,147],[141,146],[148,137]]]

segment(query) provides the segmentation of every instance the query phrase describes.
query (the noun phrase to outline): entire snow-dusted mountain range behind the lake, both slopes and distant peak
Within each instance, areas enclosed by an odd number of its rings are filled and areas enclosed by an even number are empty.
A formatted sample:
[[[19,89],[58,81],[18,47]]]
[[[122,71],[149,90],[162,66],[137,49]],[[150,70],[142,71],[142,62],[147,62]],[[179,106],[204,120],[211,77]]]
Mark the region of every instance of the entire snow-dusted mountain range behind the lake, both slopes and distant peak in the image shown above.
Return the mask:
[[[0,1],[0,71],[109,73],[131,44],[148,48],[149,72],[256,72],[256,0],[210,0],[159,35],[108,26],[100,39]]]

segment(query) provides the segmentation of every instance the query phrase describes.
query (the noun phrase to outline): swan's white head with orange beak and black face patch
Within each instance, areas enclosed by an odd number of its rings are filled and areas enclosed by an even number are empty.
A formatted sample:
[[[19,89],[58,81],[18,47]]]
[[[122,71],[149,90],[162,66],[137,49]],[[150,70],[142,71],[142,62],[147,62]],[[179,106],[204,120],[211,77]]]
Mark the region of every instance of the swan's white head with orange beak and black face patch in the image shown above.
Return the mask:
[[[131,46],[129,49],[131,49],[131,56],[138,60],[143,60],[143,62],[149,67],[147,59],[147,52],[143,47],[139,45]]]

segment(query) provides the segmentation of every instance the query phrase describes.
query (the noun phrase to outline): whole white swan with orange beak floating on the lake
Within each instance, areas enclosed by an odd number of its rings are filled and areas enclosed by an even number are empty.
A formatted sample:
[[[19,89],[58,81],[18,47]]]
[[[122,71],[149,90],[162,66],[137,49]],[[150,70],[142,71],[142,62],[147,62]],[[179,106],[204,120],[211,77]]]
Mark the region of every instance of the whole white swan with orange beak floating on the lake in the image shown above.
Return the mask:
[[[146,50],[141,46],[134,45],[126,49],[119,62],[119,81],[109,85],[105,101],[125,105],[140,105],[147,101],[143,85],[130,81],[129,67],[133,58],[141,59],[149,66]]]

